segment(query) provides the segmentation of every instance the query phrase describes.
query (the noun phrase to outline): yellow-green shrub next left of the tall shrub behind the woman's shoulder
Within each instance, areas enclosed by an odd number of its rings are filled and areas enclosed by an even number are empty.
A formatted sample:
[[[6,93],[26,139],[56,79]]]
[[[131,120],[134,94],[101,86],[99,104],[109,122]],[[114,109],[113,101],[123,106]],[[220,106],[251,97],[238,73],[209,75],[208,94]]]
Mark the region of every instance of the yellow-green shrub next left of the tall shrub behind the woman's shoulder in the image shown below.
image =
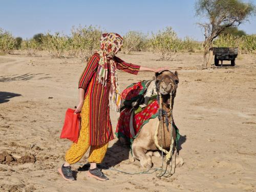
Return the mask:
[[[69,39],[60,33],[54,35],[47,33],[41,37],[41,42],[42,49],[48,51],[51,57],[61,58],[64,56],[65,50],[68,49]]]

